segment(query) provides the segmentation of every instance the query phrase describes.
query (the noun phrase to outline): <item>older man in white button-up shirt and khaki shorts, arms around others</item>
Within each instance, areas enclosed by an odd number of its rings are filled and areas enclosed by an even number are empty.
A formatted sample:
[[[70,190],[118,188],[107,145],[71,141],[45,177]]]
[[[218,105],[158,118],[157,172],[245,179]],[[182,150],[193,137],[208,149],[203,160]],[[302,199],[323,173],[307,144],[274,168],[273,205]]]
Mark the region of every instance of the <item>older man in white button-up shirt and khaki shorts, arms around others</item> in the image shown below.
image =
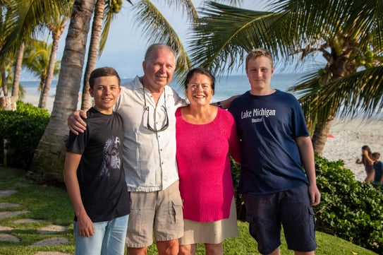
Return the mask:
[[[130,191],[128,255],[147,254],[156,239],[159,254],[177,255],[183,236],[182,200],[176,163],[176,109],[186,105],[168,84],[176,69],[176,52],[154,44],[142,62],[143,76],[121,87],[115,106],[123,119],[123,167]],[[227,107],[232,98],[217,102]],[[83,112],[68,117],[69,129],[85,129]]]

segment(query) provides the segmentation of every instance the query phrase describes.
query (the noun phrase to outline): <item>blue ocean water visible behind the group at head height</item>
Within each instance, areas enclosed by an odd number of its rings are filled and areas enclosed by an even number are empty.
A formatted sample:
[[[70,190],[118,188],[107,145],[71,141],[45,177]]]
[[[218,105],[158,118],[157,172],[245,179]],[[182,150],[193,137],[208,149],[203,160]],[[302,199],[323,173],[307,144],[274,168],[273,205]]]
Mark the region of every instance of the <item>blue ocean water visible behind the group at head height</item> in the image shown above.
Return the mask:
[[[286,91],[294,85],[296,81],[298,81],[299,77],[300,76],[297,73],[274,73],[271,86],[272,88]],[[123,78],[121,79],[121,83],[123,84],[131,80],[133,80],[133,78]],[[20,84],[23,85],[23,88],[27,94],[39,95],[39,91],[37,90],[39,81],[20,81]],[[56,85],[57,81],[52,81],[49,96],[55,95]],[[176,83],[176,81],[172,81],[169,85],[174,88],[174,90],[176,90],[181,97],[184,97],[185,93],[183,92],[183,85]],[[248,82],[247,76],[223,76],[221,78],[217,78],[212,102],[224,100],[231,95],[241,95],[248,90],[250,90],[250,83]]]

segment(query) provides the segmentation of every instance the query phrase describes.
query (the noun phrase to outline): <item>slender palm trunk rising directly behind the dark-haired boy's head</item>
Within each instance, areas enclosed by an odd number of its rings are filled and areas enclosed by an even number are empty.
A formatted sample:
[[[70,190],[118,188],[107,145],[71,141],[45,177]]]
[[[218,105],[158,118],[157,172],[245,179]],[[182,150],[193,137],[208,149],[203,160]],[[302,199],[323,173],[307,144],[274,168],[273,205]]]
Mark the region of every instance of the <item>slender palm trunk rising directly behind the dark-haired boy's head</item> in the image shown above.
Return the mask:
[[[90,45],[87,53],[87,66],[83,79],[83,99],[81,100],[81,109],[84,111],[91,107],[89,77],[96,66],[97,54],[99,51],[99,37],[101,36],[102,20],[104,20],[104,9],[105,1],[97,0],[95,16],[93,16],[92,35],[90,36]]]

